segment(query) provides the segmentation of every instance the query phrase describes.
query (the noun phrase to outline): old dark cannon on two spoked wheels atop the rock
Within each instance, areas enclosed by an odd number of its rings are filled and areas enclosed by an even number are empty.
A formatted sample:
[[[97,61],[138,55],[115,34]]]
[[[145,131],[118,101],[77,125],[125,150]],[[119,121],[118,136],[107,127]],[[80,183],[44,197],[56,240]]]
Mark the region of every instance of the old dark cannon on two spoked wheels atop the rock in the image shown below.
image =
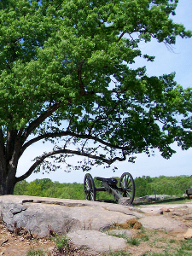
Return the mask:
[[[85,199],[89,201],[96,201],[97,191],[107,191],[112,194],[114,201],[122,201],[126,198],[126,204],[131,205],[135,196],[135,183],[134,179],[129,172],[124,172],[119,179],[119,186],[117,186],[117,179],[113,177],[96,177],[96,180],[102,182],[102,187],[96,188],[94,179],[90,173],[84,176],[84,195]]]

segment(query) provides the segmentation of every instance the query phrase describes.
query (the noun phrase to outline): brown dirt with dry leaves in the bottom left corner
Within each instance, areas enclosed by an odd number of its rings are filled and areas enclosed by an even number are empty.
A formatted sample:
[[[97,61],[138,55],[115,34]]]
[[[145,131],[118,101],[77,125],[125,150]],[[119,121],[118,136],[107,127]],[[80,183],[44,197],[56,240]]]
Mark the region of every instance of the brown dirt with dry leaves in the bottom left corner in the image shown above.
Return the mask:
[[[22,234],[23,233],[23,234]],[[83,248],[74,247],[70,241],[67,247],[59,249],[55,236],[39,238],[31,234],[9,232],[3,223],[0,224],[0,255],[5,256],[90,256]]]

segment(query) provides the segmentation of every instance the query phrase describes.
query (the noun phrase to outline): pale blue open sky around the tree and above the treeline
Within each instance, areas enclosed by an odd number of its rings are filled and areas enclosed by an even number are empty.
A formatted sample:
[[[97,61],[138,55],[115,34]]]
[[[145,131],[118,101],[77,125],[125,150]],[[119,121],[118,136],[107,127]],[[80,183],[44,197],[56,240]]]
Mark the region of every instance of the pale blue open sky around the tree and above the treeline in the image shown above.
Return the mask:
[[[180,0],[177,6],[176,16],[173,20],[177,23],[182,23],[187,29],[192,30],[192,4],[191,0]],[[192,86],[192,38],[182,39],[177,38],[177,43],[173,50],[166,48],[165,44],[158,44],[154,40],[149,44],[141,44],[141,49],[148,55],[155,55],[155,61],[147,63],[138,60],[137,65],[147,65],[148,75],[162,75],[164,73],[176,72],[177,84],[181,84],[183,88]],[[158,150],[155,150],[154,156],[148,158],[146,154],[137,154],[135,164],[125,162],[115,163],[118,170],[113,173],[111,169],[103,169],[102,166],[93,168],[90,174],[93,177],[120,177],[123,172],[131,172],[133,177],[158,177],[160,175],[177,176],[177,175],[192,175],[192,148],[183,151],[177,147],[173,148],[177,151],[170,160],[163,159]],[[18,174],[20,176],[27,171],[28,167],[32,165],[32,159],[46,151],[46,146],[43,143],[37,143],[26,150],[26,153],[20,159]],[[33,173],[31,177],[27,178],[30,182],[36,178],[50,178],[53,181],[60,183],[83,183],[84,172],[73,171],[64,172],[64,167],[56,172],[49,174]]]

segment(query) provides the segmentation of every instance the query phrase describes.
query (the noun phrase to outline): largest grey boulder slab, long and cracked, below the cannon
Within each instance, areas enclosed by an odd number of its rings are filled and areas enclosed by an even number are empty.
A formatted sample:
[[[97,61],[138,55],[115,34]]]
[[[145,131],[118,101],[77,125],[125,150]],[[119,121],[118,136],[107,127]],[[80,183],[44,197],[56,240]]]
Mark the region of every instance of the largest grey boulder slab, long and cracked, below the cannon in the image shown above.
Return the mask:
[[[0,211],[9,230],[14,230],[16,223],[38,236],[49,235],[49,229],[61,234],[72,230],[104,230],[115,222],[143,217],[142,213],[132,209],[96,201],[16,195],[0,197]]]

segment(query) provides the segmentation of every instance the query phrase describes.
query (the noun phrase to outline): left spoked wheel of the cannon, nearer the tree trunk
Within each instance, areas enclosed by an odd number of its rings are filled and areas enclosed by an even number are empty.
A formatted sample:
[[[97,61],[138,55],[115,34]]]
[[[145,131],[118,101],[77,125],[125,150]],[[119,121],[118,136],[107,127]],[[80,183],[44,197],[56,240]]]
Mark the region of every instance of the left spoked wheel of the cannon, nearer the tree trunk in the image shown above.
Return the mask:
[[[84,176],[84,195],[86,200],[96,201],[96,187],[90,173]]]

